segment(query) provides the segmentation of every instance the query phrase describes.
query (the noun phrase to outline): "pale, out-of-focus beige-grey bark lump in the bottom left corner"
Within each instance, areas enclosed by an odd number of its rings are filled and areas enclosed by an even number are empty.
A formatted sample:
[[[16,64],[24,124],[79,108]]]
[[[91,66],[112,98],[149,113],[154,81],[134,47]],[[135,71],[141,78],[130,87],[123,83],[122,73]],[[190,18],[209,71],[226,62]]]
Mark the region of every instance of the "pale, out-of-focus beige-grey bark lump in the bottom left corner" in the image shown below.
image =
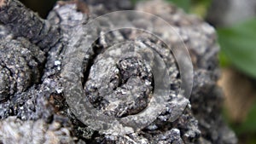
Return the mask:
[[[36,121],[21,121],[9,117],[0,122],[2,143],[74,143],[77,138],[70,133],[72,128],[55,121],[45,123],[43,119]]]

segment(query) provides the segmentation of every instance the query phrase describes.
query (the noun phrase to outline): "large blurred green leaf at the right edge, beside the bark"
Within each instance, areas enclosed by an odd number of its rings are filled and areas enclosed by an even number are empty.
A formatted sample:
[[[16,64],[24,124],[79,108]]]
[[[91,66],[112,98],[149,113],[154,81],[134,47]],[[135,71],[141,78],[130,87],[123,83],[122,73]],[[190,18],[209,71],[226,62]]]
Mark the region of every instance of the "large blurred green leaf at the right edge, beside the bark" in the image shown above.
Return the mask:
[[[229,28],[218,28],[224,55],[242,72],[256,78],[256,19]]]

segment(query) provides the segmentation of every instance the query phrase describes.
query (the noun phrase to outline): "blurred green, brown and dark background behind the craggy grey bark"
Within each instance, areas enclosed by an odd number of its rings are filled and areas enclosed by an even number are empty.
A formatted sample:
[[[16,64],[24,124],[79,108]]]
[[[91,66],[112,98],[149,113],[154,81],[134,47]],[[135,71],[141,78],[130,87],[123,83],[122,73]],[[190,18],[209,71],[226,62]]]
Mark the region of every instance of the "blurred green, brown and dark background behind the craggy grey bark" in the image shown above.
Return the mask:
[[[46,17],[56,0],[20,0]],[[137,3],[140,0],[131,0]],[[218,33],[223,114],[241,144],[256,143],[256,0],[167,0]]]

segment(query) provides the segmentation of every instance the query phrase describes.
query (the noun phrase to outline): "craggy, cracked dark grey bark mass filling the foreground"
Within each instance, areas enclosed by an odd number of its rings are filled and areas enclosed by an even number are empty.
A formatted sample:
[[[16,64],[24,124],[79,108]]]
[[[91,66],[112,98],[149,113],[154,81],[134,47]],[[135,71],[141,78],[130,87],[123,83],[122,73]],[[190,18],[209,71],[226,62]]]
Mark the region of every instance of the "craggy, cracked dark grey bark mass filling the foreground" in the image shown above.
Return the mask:
[[[180,78],[171,49],[156,37],[135,30],[110,32],[92,46],[87,43],[92,34],[91,27],[85,27],[88,21],[122,9],[159,15],[177,30],[189,49],[195,68],[194,89],[189,105],[175,121],[172,111],[186,102],[173,102]],[[131,22],[125,17],[121,20]],[[0,143],[236,143],[236,136],[220,115],[223,95],[216,85],[216,35],[211,26],[195,16],[162,1],[139,3],[133,8],[126,0],[84,0],[59,2],[48,19],[42,20],[15,0],[0,0],[0,22]],[[105,22],[113,25],[111,20]],[[168,30],[158,21],[148,19],[146,23],[156,26],[155,31],[166,37]],[[131,25],[148,26],[140,20]],[[135,43],[113,44],[126,39]],[[178,44],[177,37],[166,39]],[[142,44],[154,49],[168,67],[172,89],[166,110],[148,127],[129,135],[104,135],[91,130],[67,105],[63,66],[73,62],[69,69],[82,69],[84,77],[78,81],[82,81],[94,107],[108,116],[125,117],[147,107],[154,89],[150,66],[122,51]],[[124,52],[118,63],[112,62],[111,49]],[[83,54],[79,54],[81,50]],[[73,51],[77,55],[68,55]],[[83,66],[67,61],[73,56],[83,56]],[[67,77],[73,79],[72,75]],[[129,94],[131,91],[136,95]]]

